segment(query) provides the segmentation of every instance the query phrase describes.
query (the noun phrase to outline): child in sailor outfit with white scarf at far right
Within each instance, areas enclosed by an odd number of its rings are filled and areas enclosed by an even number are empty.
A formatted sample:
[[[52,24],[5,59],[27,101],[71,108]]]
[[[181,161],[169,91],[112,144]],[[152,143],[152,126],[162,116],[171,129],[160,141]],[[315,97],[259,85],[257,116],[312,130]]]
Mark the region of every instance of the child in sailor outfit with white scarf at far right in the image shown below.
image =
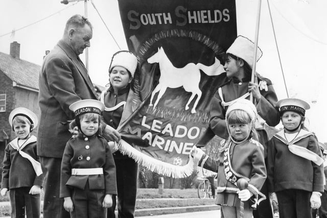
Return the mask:
[[[268,142],[269,192],[277,197],[279,217],[310,218],[310,206],[320,207],[324,181],[318,141],[303,126],[310,106],[299,99],[284,99],[277,107],[284,129]]]

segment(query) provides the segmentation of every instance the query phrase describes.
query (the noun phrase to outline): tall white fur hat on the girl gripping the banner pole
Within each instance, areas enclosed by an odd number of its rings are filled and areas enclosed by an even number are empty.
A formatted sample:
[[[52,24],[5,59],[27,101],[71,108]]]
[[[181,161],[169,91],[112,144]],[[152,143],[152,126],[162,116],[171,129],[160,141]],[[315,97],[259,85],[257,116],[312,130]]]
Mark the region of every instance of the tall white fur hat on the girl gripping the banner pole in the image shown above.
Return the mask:
[[[254,43],[250,39],[244,36],[238,36],[235,39],[235,41],[230,45],[229,49],[227,49],[226,53],[242,58],[252,68]],[[261,56],[262,56],[262,51],[260,47],[258,47],[258,51],[256,52],[256,61],[259,61]]]

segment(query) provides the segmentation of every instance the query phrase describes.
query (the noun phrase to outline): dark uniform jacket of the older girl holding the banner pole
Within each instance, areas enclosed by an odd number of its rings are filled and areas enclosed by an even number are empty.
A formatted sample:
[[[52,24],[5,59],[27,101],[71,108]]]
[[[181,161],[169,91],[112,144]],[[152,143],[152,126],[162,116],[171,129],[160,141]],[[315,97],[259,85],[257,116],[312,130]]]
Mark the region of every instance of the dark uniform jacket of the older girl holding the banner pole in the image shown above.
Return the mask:
[[[258,114],[266,120],[266,123],[269,126],[276,126],[280,121],[280,116],[278,109],[275,107],[277,103],[277,95],[273,89],[271,81],[268,79],[260,79],[258,77],[259,82],[264,80],[267,82],[268,91],[260,90],[262,95],[260,101],[256,105],[256,110]],[[242,95],[248,92],[249,81],[243,81],[239,83],[239,81],[235,81],[230,79],[225,85],[221,87],[222,95],[224,102],[230,102],[235,99],[240,98]],[[249,99],[249,97],[247,98]],[[219,96],[218,90],[216,91],[214,98],[211,103],[210,110],[210,128],[213,132],[221,138],[228,138],[228,132],[226,128],[225,122],[225,114],[228,107],[222,106],[222,100]]]

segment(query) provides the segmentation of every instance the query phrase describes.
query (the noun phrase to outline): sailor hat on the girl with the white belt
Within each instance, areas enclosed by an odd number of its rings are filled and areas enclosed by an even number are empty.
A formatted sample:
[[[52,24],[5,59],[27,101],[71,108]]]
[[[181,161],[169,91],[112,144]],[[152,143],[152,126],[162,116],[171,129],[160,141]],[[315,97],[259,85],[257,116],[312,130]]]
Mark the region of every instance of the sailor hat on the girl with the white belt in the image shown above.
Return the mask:
[[[104,104],[98,100],[85,99],[71,104],[69,110],[74,111],[75,117],[84,113],[97,113],[101,115],[104,107]]]

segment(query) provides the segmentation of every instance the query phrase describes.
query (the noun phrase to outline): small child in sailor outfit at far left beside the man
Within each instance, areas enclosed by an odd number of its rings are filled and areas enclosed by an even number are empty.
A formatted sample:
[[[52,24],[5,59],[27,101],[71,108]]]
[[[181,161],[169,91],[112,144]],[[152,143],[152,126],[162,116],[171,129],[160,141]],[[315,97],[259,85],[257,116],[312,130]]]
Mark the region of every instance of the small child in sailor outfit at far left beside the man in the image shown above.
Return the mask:
[[[36,154],[36,137],[31,135],[38,122],[27,108],[16,108],[9,114],[9,124],[16,138],[8,143],[2,172],[1,195],[9,189],[11,216],[40,217],[40,191],[43,174]]]

